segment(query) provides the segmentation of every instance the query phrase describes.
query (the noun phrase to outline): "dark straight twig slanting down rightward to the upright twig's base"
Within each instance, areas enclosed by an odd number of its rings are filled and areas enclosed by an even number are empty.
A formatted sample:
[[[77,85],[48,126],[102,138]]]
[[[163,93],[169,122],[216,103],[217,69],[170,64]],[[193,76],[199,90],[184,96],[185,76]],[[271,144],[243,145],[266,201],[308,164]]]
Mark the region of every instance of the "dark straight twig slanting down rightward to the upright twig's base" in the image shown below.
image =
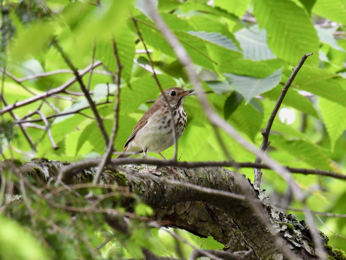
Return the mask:
[[[92,110],[92,112],[94,113],[95,117],[96,117],[96,122],[98,124],[98,127],[101,131],[102,137],[104,139],[104,143],[107,146],[108,142],[109,142],[109,138],[108,138],[108,134],[106,131],[106,128],[104,128],[104,124],[103,124],[103,120],[99,114],[99,112],[96,109],[95,103],[92,100],[88,89],[86,89],[84,82],[82,80],[81,75],[79,74],[78,70],[74,67],[74,65],[72,64],[71,60],[69,57],[67,57],[66,53],[64,52],[64,50],[62,49],[62,47],[57,43],[57,41],[55,39],[53,39],[52,41],[53,45],[56,47],[57,51],[60,53],[60,55],[63,57],[64,61],[66,62],[67,66],[70,67],[70,69],[73,71],[73,74],[75,75],[79,86],[81,87],[82,91],[85,94],[85,98],[88,100],[89,104],[90,104],[90,108]],[[92,69],[92,68],[91,68]]]

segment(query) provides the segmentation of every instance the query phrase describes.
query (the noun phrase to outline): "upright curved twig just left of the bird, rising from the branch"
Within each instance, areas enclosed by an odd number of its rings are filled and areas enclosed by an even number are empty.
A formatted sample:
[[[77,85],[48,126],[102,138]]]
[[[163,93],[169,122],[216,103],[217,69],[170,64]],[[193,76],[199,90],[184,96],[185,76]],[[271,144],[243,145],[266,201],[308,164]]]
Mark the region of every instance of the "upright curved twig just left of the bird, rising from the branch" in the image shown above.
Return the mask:
[[[113,107],[113,127],[112,127],[112,131],[109,137],[109,142],[106,148],[106,153],[104,153],[101,162],[99,164],[99,167],[97,169],[97,172],[95,174],[94,180],[93,180],[93,184],[98,183],[100,180],[100,176],[104,170],[104,167],[106,166],[106,164],[109,162],[113,150],[114,150],[114,140],[115,137],[117,135],[118,132],[118,123],[119,123],[119,96],[120,96],[120,83],[121,83],[121,70],[122,70],[122,64],[120,63],[120,59],[119,59],[119,53],[118,53],[118,49],[117,49],[117,45],[115,43],[114,40],[112,40],[112,46],[113,46],[113,52],[114,52],[114,57],[115,60],[117,62],[117,94],[114,98],[114,107]],[[108,85],[107,85],[108,86]]]

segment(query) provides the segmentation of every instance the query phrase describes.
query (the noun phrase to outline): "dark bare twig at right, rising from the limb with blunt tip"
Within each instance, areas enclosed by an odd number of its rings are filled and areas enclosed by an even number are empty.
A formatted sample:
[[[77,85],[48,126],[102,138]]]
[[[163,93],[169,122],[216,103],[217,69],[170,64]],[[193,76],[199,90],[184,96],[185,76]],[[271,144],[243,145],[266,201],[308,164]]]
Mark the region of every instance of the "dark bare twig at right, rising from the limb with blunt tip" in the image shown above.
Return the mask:
[[[281,103],[288,91],[288,88],[291,86],[295,76],[297,75],[298,71],[300,70],[300,68],[303,66],[305,60],[312,55],[312,53],[308,53],[308,54],[304,54],[303,57],[300,59],[300,61],[298,62],[297,66],[295,67],[295,69],[293,70],[291,76],[289,77],[289,79],[287,80],[285,86],[283,87],[281,94],[279,96],[279,99],[277,99],[277,102],[275,104],[275,107],[273,109],[273,112],[271,113],[269,119],[268,119],[268,123],[267,126],[265,128],[265,130],[262,132],[262,136],[263,136],[263,141],[260,147],[260,153],[264,153],[265,150],[268,147],[268,139],[269,139],[269,133],[270,133],[270,129],[272,128],[275,116],[277,114],[277,112],[280,109]],[[262,158],[260,156],[256,156],[255,159],[255,163],[262,163]],[[258,188],[260,187],[261,184],[261,178],[262,178],[262,171],[261,168],[254,168],[254,173],[255,173],[255,181],[254,184],[255,186],[257,186]]]

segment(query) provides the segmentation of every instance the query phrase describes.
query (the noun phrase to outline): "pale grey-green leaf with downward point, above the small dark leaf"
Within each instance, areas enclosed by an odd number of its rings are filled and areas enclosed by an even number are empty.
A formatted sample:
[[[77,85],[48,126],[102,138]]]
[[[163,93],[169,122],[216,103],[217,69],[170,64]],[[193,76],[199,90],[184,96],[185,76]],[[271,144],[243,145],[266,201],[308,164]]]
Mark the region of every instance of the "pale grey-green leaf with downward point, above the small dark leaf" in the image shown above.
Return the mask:
[[[267,92],[280,83],[281,69],[263,79],[231,73],[225,73],[224,76],[226,80],[234,86],[235,90],[242,94],[247,104],[253,97]]]

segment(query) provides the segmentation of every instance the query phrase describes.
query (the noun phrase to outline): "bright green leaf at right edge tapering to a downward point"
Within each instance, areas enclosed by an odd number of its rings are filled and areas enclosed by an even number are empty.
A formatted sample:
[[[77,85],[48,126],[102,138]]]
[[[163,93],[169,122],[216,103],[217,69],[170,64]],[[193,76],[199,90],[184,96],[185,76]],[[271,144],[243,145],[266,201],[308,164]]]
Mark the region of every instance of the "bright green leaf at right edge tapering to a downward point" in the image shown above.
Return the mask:
[[[319,109],[330,139],[331,151],[346,129],[346,107],[319,97]]]

